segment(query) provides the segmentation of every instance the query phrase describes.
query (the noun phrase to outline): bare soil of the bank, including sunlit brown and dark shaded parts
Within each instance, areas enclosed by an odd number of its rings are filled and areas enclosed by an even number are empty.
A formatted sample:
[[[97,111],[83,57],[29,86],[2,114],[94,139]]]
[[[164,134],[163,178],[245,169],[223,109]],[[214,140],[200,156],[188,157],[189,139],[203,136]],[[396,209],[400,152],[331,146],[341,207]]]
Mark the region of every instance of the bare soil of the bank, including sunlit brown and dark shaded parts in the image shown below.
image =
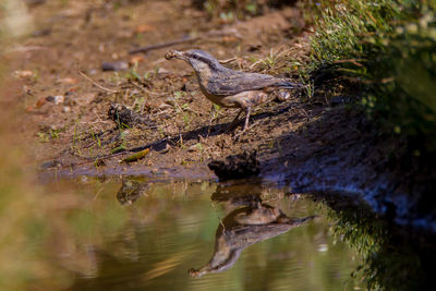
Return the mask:
[[[420,223],[422,214],[410,215],[416,203],[403,195],[407,183],[389,168],[389,138],[350,109],[349,96],[327,100],[323,86],[312,98],[293,90],[284,101],[258,106],[247,131],[241,122],[227,132],[238,110],[211,110],[192,69],[164,58],[170,49],[198,48],[230,60],[229,68],[299,82],[310,34],[296,8],[240,22],[210,19],[191,1],[43,1],[29,12],[32,36],[8,58],[20,86],[21,132],[35,142],[45,178],[216,179],[210,161],[256,150],[264,180],[293,192],[359,194],[397,221]],[[169,41],[179,44],[129,53]],[[113,62],[130,68],[107,71]],[[113,108],[141,122],[123,125]],[[146,148],[145,158],[121,162]],[[436,223],[426,227],[436,230]]]

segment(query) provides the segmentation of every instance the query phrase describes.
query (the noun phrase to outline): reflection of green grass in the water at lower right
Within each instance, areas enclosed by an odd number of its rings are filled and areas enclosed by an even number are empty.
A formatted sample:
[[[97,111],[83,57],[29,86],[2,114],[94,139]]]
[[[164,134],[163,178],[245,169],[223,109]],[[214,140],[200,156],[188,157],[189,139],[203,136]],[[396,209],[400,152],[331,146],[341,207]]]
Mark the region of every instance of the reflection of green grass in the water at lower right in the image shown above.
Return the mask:
[[[361,254],[362,263],[353,277],[365,282],[368,290],[426,290],[424,245],[411,241],[412,233],[388,223],[368,206],[355,204],[354,198],[315,199],[322,202],[322,211],[331,220],[336,238]],[[427,256],[433,257],[434,251]]]

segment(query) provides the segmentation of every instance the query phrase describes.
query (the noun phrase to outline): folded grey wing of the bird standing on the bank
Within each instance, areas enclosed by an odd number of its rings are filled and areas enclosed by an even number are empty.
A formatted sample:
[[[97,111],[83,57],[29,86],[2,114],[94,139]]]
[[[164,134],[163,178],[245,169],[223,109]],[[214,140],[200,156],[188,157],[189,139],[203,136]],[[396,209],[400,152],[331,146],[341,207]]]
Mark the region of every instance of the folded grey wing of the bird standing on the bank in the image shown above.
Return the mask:
[[[230,74],[219,74],[210,77],[207,89],[213,95],[229,96],[271,86],[294,88],[298,84],[271,75],[233,71]]]

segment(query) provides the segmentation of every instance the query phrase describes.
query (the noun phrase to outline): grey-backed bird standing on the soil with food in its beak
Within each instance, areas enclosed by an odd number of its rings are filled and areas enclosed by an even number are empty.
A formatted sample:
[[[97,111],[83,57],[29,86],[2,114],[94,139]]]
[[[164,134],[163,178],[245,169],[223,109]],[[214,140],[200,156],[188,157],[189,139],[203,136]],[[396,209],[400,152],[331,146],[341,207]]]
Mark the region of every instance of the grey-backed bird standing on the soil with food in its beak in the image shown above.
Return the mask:
[[[211,102],[226,108],[241,109],[230,129],[238,124],[239,117],[245,111],[243,132],[249,129],[250,114],[253,108],[267,101],[271,93],[279,89],[302,87],[301,84],[287,78],[228,69],[210,53],[199,49],[171,50],[165,54],[165,58],[167,60],[175,58],[191,64],[202,93]],[[283,99],[286,99],[287,94],[281,93]]]

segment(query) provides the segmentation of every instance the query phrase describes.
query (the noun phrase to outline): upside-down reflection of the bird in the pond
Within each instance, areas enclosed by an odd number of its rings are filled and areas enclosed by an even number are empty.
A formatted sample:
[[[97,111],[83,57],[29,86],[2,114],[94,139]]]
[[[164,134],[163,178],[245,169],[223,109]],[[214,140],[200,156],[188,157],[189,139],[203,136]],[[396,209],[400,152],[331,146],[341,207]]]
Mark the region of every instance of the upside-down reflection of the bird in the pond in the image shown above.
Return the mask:
[[[279,209],[261,202],[238,208],[226,216],[218,226],[210,260],[199,269],[191,269],[190,275],[201,277],[227,270],[234,265],[245,247],[284,233],[313,218],[314,216],[290,218]]]

